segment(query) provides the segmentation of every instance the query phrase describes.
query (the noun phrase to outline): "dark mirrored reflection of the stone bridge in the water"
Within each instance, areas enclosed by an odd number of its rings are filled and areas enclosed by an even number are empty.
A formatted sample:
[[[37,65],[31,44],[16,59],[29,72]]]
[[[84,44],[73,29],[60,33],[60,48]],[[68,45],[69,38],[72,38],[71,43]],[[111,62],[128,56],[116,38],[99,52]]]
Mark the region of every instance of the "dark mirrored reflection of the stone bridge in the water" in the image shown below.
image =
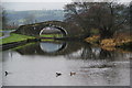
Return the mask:
[[[43,44],[43,43],[42,43]],[[52,44],[56,44],[57,43],[52,43]],[[50,45],[50,44],[47,44]],[[70,54],[73,52],[77,52],[78,50],[81,48],[81,44],[79,43],[65,43],[65,42],[62,42],[62,43],[58,43],[58,48],[54,50],[55,48],[55,45],[54,48],[52,48],[52,46],[46,46],[46,43],[45,43],[45,46],[41,45],[41,43],[36,43],[36,44],[32,44],[32,45],[28,45],[28,46],[24,46],[24,47],[21,47],[19,50],[16,50],[16,52],[19,52],[20,54],[22,55],[47,55],[47,56],[57,56],[57,55],[67,55],[67,54]],[[50,47],[48,50],[46,50],[47,47]]]

